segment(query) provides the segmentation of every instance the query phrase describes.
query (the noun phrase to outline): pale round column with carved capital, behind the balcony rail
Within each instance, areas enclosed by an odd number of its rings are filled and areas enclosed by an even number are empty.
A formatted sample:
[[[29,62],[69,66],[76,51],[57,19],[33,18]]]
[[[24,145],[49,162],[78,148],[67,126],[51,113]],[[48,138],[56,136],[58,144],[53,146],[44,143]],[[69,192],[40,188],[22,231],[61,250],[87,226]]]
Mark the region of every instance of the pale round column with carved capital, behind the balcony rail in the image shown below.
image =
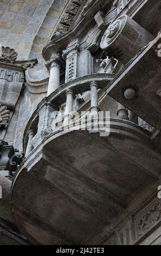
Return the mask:
[[[47,96],[54,92],[60,86],[60,69],[61,58],[59,53],[52,53],[51,59],[45,62],[45,65],[49,69],[49,82],[47,89]]]

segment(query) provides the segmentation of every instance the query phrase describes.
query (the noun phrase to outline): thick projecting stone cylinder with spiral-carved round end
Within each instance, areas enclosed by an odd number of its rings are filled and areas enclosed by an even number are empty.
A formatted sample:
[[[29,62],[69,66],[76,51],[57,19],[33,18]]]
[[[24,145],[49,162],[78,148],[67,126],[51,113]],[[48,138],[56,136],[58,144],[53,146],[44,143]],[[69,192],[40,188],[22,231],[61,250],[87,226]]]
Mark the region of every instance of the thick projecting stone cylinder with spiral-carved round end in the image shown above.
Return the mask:
[[[101,48],[122,64],[126,64],[140,48],[153,39],[153,35],[131,17],[121,15],[107,28],[102,37]]]

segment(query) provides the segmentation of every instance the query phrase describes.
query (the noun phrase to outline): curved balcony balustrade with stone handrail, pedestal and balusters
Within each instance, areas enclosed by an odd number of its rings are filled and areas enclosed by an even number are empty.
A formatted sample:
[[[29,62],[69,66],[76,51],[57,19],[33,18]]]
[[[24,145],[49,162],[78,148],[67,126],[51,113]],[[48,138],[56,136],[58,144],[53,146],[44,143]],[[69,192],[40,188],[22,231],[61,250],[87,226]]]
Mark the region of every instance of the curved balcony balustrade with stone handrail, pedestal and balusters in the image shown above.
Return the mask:
[[[50,94],[47,98],[43,99],[36,111],[33,113],[32,117],[30,118],[26,132],[24,133],[24,151],[27,154],[30,153],[32,148],[35,148],[38,144],[41,143],[42,139],[44,139],[49,133],[53,132],[55,127],[55,120],[58,114],[60,114],[60,105],[64,102],[67,103],[65,108],[65,121],[68,120],[69,113],[73,111],[73,102],[72,102],[72,95],[77,95],[79,93],[86,92],[90,89],[91,81],[95,81],[97,83],[98,88],[106,87],[106,84],[113,80],[115,75],[113,74],[94,74],[89,76],[84,76],[83,78],[77,78],[73,81],[69,81],[65,83],[63,86],[54,90],[52,94]],[[92,101],[95,100],[95,96],[97,96],[96,92],[94,96],[92,96]],[[67,101],[66,101],[67,100]],[[93,104],[93,103],[92,103]],[[93,107],[96,107],[91,105]],[[72,117],[70,117],[72,118]],[[35,129],[35,127],[37,127]],[[30,130],[34,130],[35,136],[30,140]],[[33,134],[33,132],[32,132]],[[29,141],[29,142],[28,142]],[[29,149],[29,150],[28,150]]]

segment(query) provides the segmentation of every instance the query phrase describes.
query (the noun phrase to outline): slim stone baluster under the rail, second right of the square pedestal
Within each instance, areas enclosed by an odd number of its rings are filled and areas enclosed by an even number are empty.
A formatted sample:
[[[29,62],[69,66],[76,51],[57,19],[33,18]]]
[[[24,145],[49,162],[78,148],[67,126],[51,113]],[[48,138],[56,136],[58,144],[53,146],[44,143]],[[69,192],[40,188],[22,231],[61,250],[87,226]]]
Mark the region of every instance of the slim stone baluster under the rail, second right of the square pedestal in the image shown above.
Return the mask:
[[[91,89],[91,107],[90,107],[90,113],[98,113],[98,85],[96,82],[90,83],[90,89]]]

